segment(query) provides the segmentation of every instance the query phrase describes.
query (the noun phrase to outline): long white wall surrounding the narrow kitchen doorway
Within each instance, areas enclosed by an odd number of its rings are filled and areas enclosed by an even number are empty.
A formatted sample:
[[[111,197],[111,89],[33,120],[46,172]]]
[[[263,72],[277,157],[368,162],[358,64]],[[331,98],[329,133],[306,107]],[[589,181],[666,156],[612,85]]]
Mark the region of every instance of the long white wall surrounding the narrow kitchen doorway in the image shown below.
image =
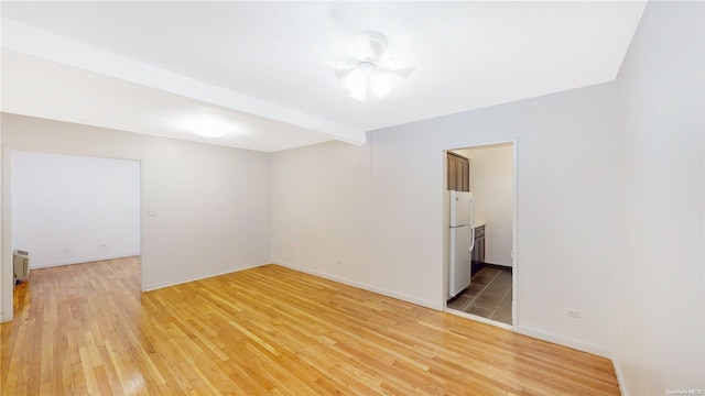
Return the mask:
[[[609,354],[614,102],[600,85],[275,153],[272,258],[441,308],[444,150],[516,139],[519,330]]]

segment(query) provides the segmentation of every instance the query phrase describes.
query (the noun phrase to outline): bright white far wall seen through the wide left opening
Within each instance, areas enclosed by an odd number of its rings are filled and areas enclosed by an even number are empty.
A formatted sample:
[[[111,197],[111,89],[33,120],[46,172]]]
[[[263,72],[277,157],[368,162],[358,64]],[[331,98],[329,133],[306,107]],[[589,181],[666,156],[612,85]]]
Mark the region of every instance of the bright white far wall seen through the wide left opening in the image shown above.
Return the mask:
[[[12,249],[33,268],[140,254],[140,163],[14,151]]]

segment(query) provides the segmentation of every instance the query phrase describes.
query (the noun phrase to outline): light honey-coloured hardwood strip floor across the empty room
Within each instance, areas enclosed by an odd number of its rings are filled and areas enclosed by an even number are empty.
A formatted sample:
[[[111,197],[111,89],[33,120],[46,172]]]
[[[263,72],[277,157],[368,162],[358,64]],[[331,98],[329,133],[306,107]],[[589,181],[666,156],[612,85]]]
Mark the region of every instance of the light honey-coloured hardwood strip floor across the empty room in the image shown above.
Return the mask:
[[[276,265],[139,292],[139,258],[33,271],[2,395],[618,395],[603,358]]]

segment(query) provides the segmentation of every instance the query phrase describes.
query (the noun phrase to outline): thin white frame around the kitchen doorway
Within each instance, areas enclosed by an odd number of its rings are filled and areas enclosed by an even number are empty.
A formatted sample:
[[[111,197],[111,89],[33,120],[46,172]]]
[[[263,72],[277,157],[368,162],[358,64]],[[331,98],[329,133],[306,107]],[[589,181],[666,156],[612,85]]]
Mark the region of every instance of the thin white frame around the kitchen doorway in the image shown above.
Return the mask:
[[[466,314],[466,312],[460,312],[457,311],[455,309],[451,309],[448,308],[448,304],[447,304],[447,295],[448,295],[448,276],[449,276],[449,257],[448,257],[448,241],[449,241],[449,232],[448,232],[448,227],[449,227],[449,209],[448,209],[448,191],[447,191],[447,153],[452,152],[452,151],[457,151],[457,150],[467,150],[467,148],[482,148],[482,147],[490,147],[490,146],[495,146],[495,145],[502,145],[502,144],[511,144],[512,147],[512,232],[511,232],[511,241],[512,241],[512,254],[511,254],[511,264],[512,264],[512,299],[511,299],[511,321],[512,324],[506,324],[506,323],[501,323],[491,319],[487,319],[487,318],[482,318],[476,315],[470,315],[470,314]],[[457,315],[457,316],[462,316],[471,320],[476,320],[479,322],[484,322],[484,323],[488,323],[488,324],[492,324],[492,326],[497,326],[503,329],[508,329],[508,330],[513,330],[517,331],[518,327],[519,327],[519,318],[518,318],[518,307],[519,307],[519,285],[521,284],[519,282],[519,277],[521,275],[521,273],[519,272],[519,245],[518,245],[518,229],[519,229],[519,222],[518,222],[518,179],[519,179],[519,166],[518,166],[518,144],[517,144],[517,139],[510,139],[510,140],[500,140],[500,141],[490,141],[490,142],[480,142],[480,143],[473,143],[466,146],[459,146],[459,147],[448,147],[443,150],[442,152],[442,157],[443,157],[443,287],[441,288],[443,290],[443,298],[442,298],[442,307],[443,307],[443,311],[445,312],[449,312],[453,315]],[[470,164],[471,166],[471,164]]]

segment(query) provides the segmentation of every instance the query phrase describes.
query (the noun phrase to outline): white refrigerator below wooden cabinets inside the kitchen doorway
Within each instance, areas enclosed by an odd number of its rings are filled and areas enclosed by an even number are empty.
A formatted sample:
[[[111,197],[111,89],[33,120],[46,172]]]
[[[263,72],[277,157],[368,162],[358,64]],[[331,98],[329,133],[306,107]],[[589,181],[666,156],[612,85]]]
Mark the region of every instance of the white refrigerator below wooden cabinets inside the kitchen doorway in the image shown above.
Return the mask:
[[[471,193],[451,191],[448,295],[457,296],[470,285],[475,248],[475,200]]]

